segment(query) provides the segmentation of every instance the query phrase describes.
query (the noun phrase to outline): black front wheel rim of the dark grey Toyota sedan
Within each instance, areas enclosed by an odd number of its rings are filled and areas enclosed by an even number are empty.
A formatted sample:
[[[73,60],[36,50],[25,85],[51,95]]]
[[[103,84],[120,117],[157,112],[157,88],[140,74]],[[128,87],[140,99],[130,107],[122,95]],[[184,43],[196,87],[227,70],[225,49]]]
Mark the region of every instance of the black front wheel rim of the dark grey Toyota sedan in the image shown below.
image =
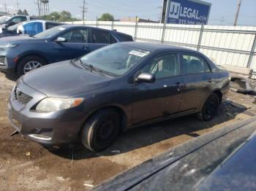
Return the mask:
[[[99,130],[97,138],[99,141],[107,141],[110,139],[114,129],[114,123],[112,120],[104,120],[99,124]]]

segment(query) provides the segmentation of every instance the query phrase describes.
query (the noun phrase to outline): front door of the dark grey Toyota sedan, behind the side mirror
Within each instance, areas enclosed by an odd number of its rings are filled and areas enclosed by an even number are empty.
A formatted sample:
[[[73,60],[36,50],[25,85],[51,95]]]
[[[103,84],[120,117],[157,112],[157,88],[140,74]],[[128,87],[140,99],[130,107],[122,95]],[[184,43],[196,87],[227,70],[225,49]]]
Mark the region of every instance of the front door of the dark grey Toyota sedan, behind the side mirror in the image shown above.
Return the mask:
[[[183,77],[177,53],[154,58],[140,73],[151,73],[156,82],[140,82],[133,88],[132,122],[144,122],[179,111]]]

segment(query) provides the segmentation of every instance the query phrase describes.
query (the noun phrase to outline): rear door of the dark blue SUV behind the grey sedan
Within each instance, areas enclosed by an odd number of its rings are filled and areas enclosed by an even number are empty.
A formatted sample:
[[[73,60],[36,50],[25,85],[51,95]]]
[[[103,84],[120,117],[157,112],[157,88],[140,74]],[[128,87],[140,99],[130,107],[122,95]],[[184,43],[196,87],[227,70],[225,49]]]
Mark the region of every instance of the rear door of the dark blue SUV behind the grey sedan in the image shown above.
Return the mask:
[[[100,47],[105,47],[110,44],[110,33],[100,29],[91,29],[90,50],[94,51]]]

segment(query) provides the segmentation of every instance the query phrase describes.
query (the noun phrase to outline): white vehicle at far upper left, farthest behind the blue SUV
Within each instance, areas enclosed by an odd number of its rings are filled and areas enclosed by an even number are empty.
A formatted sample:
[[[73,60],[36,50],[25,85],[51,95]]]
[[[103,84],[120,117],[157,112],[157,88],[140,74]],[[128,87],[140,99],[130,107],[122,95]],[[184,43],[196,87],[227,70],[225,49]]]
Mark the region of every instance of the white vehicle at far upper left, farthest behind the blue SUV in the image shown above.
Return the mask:
[[[38,17],[30,17],[26,15],[14,15],[12,17],[7,18],[6,20],[1,20],[0,27],[8,28],[9,26],[14,26],[15,24],[21,23],[26,20],[39,20]]]

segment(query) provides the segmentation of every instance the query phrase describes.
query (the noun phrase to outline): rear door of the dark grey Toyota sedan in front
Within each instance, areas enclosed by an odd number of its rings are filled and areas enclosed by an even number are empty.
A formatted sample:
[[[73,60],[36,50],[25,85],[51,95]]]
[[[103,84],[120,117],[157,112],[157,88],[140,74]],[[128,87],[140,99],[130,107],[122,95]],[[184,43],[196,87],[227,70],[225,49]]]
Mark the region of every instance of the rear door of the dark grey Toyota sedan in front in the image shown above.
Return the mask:
[[[184,52],[181,60],[185,85],[181,111],[200,109],[214,89],[214,73],[201,55]]]

